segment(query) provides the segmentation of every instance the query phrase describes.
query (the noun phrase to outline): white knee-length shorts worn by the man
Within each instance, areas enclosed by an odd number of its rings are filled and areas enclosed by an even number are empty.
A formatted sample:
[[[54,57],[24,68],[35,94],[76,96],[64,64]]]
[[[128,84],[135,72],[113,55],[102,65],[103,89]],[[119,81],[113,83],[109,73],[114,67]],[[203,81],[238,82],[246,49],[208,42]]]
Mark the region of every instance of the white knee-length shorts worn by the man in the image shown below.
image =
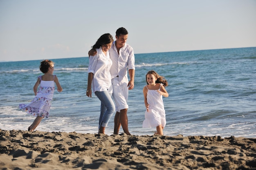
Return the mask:
[[[112,78],[113,87],[113,99],[115,101],[116,110],[120,113],[120,110],[128,108],[128,87],[127,83],[120,84],[119,77]]]

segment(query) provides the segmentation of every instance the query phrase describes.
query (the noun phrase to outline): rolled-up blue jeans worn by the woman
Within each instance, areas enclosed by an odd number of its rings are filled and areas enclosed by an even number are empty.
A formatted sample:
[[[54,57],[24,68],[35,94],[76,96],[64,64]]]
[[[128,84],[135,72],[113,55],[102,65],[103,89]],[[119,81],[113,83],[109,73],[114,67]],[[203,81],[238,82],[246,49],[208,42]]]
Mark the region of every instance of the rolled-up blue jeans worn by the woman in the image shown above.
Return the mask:
[[[115,112],[115,104],[108,91],[96,91],[95,95],[101,101],[101,115],[99,117],[99,128],[107,127],[110,118]]]

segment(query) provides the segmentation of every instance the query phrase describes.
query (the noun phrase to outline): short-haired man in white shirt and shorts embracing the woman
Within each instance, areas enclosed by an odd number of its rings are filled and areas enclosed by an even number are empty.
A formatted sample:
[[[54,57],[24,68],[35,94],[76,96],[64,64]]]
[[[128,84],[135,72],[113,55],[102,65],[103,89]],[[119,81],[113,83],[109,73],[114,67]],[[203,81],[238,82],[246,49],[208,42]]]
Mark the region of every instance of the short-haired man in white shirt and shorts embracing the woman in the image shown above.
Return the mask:
[[[113,98],[117,110],[114,119],[114,134],[118,134],[122,126],[124,132],[130,135],[128,130],[127,99],[128,90],[134,88],[135,57],[132,47],[126,44],[127,38],[128,31],[125,28],[121,27],[117,29],[116,41],[113,42],[109,50],[109,55],[113,63],[110,68],[110,74],[112,78]],[[89,56],[94,56],[96,52],[92,49],[88,54]],[[130,81],[128,81],[127,68]]]

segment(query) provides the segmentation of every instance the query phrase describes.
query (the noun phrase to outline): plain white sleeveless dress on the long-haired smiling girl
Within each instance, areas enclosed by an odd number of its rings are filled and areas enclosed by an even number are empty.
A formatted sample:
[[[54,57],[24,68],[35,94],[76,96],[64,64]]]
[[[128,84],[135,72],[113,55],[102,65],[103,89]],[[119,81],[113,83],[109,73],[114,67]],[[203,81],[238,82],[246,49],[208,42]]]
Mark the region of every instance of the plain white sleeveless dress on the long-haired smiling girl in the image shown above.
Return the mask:
[[[161,86],[162,84],[160,85],[160,88]],[[159,91],[160,91],[160,88],[158,89]],[[165,119],[163,96],[157,93],[157,90],[148,89],[147,102],[149,104],[149,110],[145,111],[145,120],[143,121],[142,127],[155,128],[160,124],[162,124],[162,127],[164,127],[166,125],[166,119]]]

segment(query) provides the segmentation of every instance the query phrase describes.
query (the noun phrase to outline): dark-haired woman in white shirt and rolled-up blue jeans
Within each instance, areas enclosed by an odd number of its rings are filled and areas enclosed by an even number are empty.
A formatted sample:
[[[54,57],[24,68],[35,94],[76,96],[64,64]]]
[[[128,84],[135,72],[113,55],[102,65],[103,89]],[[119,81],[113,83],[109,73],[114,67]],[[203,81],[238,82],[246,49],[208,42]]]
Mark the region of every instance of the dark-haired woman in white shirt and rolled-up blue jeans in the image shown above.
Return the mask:
[[[97,55],[89,56],[88,67],[88,86],[86,95],[92,97],[92,91],[101,101],[101,115],[99,117],[99,132],[105,134],[108,121],[115,112],[115,104],[111,98],[112,85],[110,67],[112,61],[109,57],[113,37],[109,33],[101,35],[97,42],[92,46],[97,50]],[[92,88],[91,88],[92,86]]]

